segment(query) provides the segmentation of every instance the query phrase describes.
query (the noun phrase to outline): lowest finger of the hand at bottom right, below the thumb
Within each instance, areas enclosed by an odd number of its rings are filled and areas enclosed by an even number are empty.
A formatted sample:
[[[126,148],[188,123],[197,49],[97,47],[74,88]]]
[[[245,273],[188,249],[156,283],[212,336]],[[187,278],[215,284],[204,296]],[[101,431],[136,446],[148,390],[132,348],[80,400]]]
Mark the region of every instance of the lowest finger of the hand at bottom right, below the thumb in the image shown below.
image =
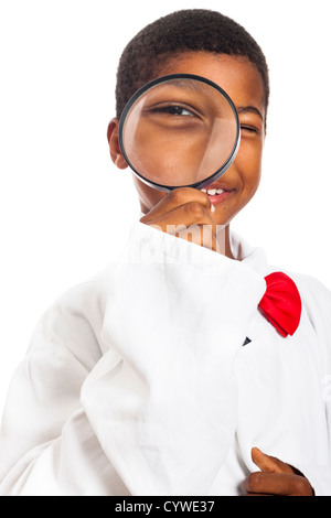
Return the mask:
[[[290,473],[252,473],[244,481],[247,494],[276,496],[312,496],[307,478]]]

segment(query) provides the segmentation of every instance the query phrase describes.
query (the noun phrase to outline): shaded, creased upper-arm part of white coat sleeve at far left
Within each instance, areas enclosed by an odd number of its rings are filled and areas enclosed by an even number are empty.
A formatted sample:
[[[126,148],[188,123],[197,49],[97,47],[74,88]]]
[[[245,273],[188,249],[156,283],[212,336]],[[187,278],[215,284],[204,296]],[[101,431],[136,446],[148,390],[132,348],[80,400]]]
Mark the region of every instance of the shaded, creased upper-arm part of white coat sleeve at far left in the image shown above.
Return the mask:
[[[6,401],[0,495],[127,494],[81,404],[81,387],[100,358],[99,300],[73,289],[35,327]]]

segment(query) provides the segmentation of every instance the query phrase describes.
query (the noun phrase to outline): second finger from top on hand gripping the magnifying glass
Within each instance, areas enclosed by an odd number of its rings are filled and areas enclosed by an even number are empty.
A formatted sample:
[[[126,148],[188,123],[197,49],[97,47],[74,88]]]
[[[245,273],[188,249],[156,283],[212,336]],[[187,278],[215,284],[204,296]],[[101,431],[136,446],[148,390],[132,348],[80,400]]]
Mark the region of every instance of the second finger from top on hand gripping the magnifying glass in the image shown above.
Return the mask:
[[[147,222],[142,222],[147,223]],[[216,237],[217,227],[209,211],[197,202],[181,205],[160,217],[153,218],[148,225],[157,225],[164,233],[174,234],[193,225],[210,226],[212,235]]]

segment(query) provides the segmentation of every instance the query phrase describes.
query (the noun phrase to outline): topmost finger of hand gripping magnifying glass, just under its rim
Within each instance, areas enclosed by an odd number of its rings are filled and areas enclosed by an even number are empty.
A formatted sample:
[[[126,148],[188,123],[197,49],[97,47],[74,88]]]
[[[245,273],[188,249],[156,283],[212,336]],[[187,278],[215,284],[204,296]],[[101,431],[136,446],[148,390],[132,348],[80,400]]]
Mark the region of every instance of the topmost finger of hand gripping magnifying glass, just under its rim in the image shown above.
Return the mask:
[[[151,223],[156,218],[159,218],[174,208],[180,207],[181,205],[185,205],[190,202],[200,203],[209,212],[214,211],[214,206],[212,205],[206,193],[203,193],[197,188],[180,187],[174,188],[169,194],[167,194],[167,196],[162,197],[162,199],[148,214],[146,214],[140,219],[140,222]]]

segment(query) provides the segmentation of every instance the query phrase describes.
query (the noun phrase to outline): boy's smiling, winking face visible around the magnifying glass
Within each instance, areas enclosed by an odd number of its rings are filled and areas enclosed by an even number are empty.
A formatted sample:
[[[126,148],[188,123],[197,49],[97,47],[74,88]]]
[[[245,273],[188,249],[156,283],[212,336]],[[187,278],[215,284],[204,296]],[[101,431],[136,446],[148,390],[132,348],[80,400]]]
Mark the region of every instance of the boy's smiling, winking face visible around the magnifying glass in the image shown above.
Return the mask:
[[[215,206],[213,218],[216,225],[227,225],[254,196],[260,180],[261,154],[265,137],[265,96],[261,77],[256,67],[245,57],[213,55],[204,52],[184,53],[167,62],[159,76],[168,74],[195,74],[220,85],[234,101],[241,122],[241,145],[234,163],[213,182],[214,188],[229,191]],[[108,132],[109,137],[109,132]],[[111,150],[114,160],[118,147]],[[167,150],[164,150],[167,153]],[[114,160],[124,168],[124,159]],[[141,211],[147,214],[167,193],[149,187],[134,175]],[[205,187],[209,188],[207,186]]]

